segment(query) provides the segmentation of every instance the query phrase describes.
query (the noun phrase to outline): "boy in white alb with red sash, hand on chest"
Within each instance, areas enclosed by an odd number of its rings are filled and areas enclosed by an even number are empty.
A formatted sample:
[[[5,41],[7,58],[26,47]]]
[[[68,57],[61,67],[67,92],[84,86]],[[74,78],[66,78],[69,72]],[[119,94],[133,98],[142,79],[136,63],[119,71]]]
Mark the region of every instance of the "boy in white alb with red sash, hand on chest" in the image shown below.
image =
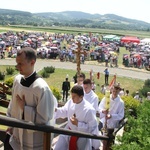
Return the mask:
[[[83,96],[83,87],[75,85],[71,89],[72,99],[60,108],[56,108],[56,118],[67,117],[68,124],[66,129],[81,131],[86,133],[93,133],[98,129],[96,112],[92,105],[86,101]],[[60,135],[54,150],[71,150],[70,147],[71,136]],[[78,150],[92,150],[91,139],[77,138],[75,144]]]

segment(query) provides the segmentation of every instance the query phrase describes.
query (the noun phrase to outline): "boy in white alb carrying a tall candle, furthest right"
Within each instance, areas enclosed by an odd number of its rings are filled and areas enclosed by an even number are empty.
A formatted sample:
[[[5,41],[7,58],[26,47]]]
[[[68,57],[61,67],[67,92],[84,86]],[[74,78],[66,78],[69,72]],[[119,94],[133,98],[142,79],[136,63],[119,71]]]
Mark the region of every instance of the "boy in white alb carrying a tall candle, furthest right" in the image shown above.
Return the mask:
[[[106,127],[108,136],[111,136],[114,129],[118,127],[119,121],[124,118],[124,101],[119,96],[120,86],[114,85],[111,89],[111,94],[107,97],[104,97],[99,104],[100,112],[100,121],[103,124],[103,127]],[[109,108],[106,108],[106,105],[109,103]],[[113,140],[103,141],[103,150],[111,147]]]

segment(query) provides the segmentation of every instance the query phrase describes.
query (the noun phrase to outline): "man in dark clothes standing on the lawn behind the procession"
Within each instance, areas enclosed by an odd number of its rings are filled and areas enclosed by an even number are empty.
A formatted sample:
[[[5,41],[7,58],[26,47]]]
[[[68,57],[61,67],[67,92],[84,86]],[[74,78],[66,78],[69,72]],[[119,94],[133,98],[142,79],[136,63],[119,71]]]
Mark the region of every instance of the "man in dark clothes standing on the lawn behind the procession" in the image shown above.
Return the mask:
[[[66,97],[66,101],[67,101],[68,91],[70,90],[70,82],[68,81],[68,78],[66,78],[66,81],[63,82],[62,90],[63,90],[63,101],[64,101],[65,97]]]

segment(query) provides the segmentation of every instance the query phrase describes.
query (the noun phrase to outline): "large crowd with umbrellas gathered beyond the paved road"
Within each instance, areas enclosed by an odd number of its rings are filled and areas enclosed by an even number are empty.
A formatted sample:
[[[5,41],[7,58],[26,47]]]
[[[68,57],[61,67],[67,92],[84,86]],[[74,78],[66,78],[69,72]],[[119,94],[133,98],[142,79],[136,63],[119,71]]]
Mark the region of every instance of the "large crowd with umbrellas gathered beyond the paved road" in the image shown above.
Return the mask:
[[[105,66],[118,67],[120,46],[124,46],[129,54],[124,54],[123,64],[126,67],[150,68],[150,46],[146,44],[102,41],[98,34],[62,34],[41,32],[6,32],[0,34],[0,58],[16,57],[17,51],[29,46],[37,50],[39,58],[59,58],[60,61],[76,61],[76,42],[80,41],[82,49],[81,63],[85,60],[105,62]],[[7,52],[7,56],[6,56]]]

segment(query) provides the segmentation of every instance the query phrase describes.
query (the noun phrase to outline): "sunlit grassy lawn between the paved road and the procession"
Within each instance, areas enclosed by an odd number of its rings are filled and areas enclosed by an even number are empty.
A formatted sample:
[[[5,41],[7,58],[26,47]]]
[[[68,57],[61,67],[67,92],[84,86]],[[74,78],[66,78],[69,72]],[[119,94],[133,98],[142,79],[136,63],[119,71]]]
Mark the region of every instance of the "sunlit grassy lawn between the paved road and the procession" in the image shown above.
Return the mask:
[[[65,69],[55,69],[55,73],[51,74],[49,78],[45,78],[44,80],[51,87],[56,87],[61,91],[62,82],[65,80],[66,75],[69,75],[69,81],[72,81],[73,76],[75,75],[75,70],[65,70]],[[89,72],[84,72],[86,78],[89,78]],[[109,77],[109,82],[113,79],[113,76]],[[100,92],[100,86],[104,84],[104,74],[100,75],[100,79],[96,78],[96,74],[94,75],[94,81],[96,83],[96,92]],[[125,77],[117,77],[117,82],[120,82],[121,86],[125,90],[129,90],[130,94],[142,88],[144,81],[138,79],[131,79]],[[132,86],[134,85],[134,86]]]

